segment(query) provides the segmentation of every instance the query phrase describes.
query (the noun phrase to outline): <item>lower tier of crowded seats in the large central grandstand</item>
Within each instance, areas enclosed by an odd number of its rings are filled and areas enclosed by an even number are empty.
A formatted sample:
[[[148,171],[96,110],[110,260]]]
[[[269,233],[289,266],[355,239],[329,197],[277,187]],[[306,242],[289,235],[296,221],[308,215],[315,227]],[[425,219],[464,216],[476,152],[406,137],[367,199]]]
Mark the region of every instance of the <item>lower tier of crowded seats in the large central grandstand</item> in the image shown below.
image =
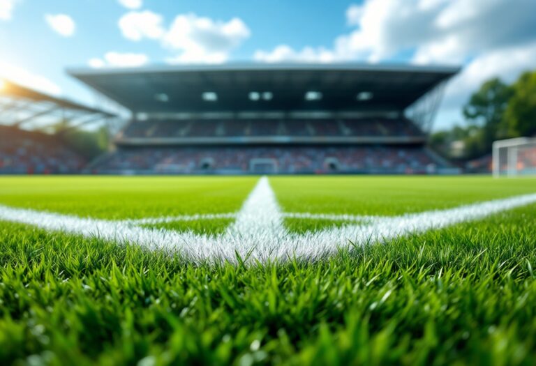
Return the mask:
[[[426,172],[438,164],[423,147],[229,146],[211,148],[123,148],[94,172]]]

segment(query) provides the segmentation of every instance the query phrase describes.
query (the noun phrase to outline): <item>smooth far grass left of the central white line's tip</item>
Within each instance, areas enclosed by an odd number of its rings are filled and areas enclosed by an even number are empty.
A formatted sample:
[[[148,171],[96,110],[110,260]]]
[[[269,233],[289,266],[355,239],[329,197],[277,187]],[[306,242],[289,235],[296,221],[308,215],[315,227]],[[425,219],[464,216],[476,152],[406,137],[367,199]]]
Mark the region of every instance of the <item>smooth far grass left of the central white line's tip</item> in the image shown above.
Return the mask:
[[[92,218],[237,211],[255,177],[3,177],[0,204]]]

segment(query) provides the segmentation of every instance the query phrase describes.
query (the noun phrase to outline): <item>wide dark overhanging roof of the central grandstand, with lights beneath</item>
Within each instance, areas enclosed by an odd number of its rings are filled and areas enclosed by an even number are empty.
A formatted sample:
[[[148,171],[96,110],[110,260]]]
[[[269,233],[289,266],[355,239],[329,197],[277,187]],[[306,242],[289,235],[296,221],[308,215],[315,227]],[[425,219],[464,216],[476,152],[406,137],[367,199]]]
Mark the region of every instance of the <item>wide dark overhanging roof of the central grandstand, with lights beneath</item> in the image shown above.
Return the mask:
[[[459,68],[228,63],[68,73],[133,112],[401,110]]]

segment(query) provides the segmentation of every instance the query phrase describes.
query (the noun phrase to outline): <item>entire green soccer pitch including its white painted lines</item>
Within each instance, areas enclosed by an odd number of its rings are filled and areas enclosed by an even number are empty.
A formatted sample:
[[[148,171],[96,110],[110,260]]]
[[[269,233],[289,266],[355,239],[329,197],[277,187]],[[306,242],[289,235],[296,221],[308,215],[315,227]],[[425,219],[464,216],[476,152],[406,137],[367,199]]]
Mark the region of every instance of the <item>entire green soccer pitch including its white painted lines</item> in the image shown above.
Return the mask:
[[[0,178],[0,363],[536,363],[536,179]]]

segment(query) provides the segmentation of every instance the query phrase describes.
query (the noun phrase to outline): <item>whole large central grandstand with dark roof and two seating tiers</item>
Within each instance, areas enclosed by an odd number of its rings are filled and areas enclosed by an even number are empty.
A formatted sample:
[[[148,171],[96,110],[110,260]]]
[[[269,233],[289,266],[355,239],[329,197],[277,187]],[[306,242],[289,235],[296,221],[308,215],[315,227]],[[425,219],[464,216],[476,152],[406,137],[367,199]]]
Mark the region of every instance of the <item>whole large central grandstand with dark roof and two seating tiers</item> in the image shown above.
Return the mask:
[[[408,174],[459,68],[226,64],[69,70],[132,112],[103,174]]]

